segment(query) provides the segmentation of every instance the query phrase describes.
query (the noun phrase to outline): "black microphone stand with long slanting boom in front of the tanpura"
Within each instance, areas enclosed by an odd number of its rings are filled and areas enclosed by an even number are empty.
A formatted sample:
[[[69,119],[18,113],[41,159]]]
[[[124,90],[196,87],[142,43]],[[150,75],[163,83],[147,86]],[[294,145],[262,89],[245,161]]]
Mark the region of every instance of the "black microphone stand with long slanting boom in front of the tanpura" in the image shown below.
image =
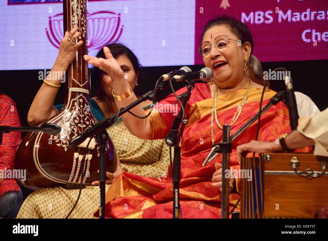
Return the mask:
[[[157,90],[162,90],[167,87],[169,84],[168,81],[163,81],[158,84]],[[74,148],[84,142],[88,137],[92,138],[96,135],[97,140],[100,145],[100,153],[99,153],[99,218],[105,218],[105,184],[106,184],[106,144],[109,139],[108,133],[106,129],[113,125],[114,120],[129,110],[133,109],[135,106],[139,105],[141,102],[146,101],[147,99],[153,100],[154,98],[154,90],[150,90],[147,93],[143,94],[139,99],[131,103],[125,108],[122,108],[121,111],[117,112],[111,117],[105,118],[87,131],[75,136],[69,143],[69,148]]]

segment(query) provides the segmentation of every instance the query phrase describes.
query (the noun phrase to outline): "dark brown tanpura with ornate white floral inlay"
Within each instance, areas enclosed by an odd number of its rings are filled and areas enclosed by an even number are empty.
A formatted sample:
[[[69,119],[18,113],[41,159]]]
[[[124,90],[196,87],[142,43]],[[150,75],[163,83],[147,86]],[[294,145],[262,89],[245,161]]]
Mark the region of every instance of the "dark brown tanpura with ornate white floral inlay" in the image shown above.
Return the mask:
[[[97,123],[90,109],[90,81],[88,63],[83,55],[87,54],[87,10],[86,0],[63,1],[64,32],[79,28],[83,40],[76,57],[66,72],[65,101],[63,109],[44,123],[55,123],[61,127],[57,135],[43,132],[29,132],[21,140],[14,158],[15,169],[26,170],[26,180],[17,179],[24,187],[39,188],[62,186],[68,189],[78,188],[83,173],[83,184],[91,185],[98,180],[97,170],[100,146],[92,138],[85,158],[82,159],[89,138],[80,146],[70,149],[69,142]],[[116,151],[112,140],[106,145],[106,171],[116,170]]]

